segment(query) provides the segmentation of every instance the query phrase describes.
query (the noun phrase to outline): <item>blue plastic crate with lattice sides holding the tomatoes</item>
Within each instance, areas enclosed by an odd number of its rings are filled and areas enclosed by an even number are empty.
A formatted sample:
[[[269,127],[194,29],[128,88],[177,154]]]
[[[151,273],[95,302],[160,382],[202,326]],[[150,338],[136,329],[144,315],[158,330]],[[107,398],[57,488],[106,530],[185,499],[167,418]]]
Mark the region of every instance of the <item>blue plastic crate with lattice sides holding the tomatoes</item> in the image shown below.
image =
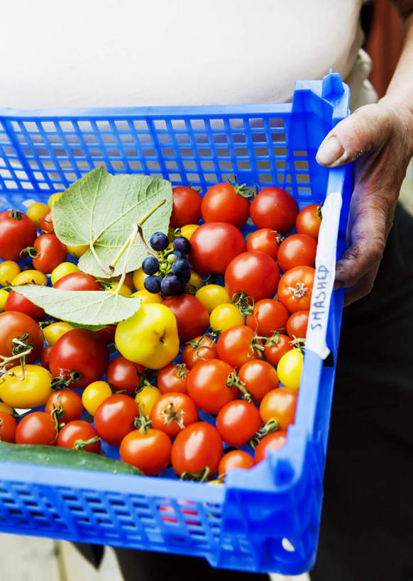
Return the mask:
[[[335,260],[345,248],[351,174],[348,167],[321,167],[315,154],[348,115],[348,98],[339,75],[329,74],[297,82],[291,104],[0,109],[0,211],[47,201],[99,165],[114,174],[199,185],[204,192],[235,174],[240,183],[287,189],[300,207],[341,193],[338,232],[332,248],[324,249]],[[224,486],[1,463],[0,531],[196,555],[221,568],[309,570],[343,304],[341,291],[330,295],[321,331],[332,355],[324,361],[307,349],[284,448],[249,471],[230,472]],[[319,313],[312,316],[316,327]]]

